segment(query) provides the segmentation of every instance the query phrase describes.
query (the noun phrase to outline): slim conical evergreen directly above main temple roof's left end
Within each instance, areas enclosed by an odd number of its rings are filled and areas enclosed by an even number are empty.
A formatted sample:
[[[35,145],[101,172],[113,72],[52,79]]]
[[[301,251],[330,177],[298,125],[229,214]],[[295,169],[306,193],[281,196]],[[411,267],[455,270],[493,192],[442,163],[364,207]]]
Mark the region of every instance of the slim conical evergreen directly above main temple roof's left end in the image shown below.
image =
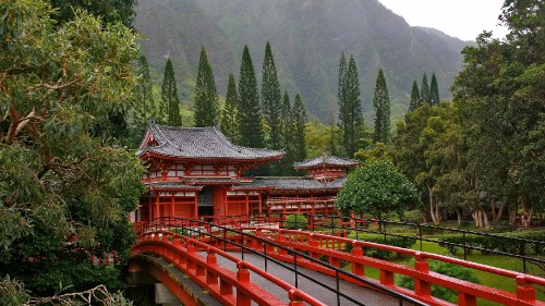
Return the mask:
[[[167,60],[165,65],[165,76],[161,85],[161,105],[160,105],[160,122],[165,122],[170,126],[181,126],[182,118],[180,115],[180,100],[178,98],[178,89],[175,85],[174,70],[172,61]]]

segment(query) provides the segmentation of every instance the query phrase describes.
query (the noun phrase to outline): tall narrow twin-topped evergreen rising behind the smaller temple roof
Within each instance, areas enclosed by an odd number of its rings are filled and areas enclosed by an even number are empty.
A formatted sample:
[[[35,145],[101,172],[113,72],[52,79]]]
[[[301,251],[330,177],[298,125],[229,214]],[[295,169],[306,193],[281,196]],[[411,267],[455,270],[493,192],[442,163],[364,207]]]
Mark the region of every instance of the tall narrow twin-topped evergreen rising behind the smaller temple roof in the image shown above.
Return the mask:
[[[360,99],[360,83],[355,60],[350,56],[348,70],[341,57],[339,64],[339,124],[342,131],[344,152],[352,156],[358,150],[358,140],[363,126],[363,113]]]

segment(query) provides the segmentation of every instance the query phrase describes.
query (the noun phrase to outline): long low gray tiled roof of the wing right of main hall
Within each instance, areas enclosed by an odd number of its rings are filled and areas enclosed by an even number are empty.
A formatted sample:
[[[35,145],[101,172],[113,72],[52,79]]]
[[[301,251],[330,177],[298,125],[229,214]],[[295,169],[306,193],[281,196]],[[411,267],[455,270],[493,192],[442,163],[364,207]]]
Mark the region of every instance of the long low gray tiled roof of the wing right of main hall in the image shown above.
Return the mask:
[[[233,189],[272,188],[277,191],[296,189],[339,189],[347,181],[347,178],[334,180],[331,182],[320,182],[310,178],[256,178],[252,183],[233,185]]]

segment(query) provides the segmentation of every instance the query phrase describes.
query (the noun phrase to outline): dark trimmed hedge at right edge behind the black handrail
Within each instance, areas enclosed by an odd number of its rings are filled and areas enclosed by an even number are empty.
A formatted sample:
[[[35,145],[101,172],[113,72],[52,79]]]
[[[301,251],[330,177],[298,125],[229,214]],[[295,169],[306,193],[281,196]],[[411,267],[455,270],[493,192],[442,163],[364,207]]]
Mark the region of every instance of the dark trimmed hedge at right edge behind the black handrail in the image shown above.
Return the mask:
[[[511,240],[509,237],[530,240],[533,242]],[[452,255],[456,255],[458,250],[463,249],[464,242],[468,246],[467,249],[469,254],[471,254],[474,248],[486,249],[482,250],[483,254],[489,254],[494,250],[509,254],[521,254],[522,245],[524,245],[524,254],[534,253],[535,255],[542,255],[545,250],[544,231],[510,232],[494,236],[465,234],[465,240],[462,233],[444,234],[438,236],[438,241],[439,246],[447,248]]]

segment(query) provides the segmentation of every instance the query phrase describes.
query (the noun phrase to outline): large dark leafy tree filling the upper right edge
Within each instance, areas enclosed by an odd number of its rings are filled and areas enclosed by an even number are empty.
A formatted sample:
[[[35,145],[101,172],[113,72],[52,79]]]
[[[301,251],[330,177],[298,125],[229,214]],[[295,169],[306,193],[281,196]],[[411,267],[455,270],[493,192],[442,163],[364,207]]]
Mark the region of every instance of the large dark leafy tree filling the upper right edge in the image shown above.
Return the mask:
[[[505,41],[483,33],[463,50],[464,70],[452,87],[468,139],[469,169],[489,197],[509,205],[510,222],[522,206],[524,225],[543,211],[545,168],[543,1],[505,1]],[[537,137],[537,138],[536,138]]]

